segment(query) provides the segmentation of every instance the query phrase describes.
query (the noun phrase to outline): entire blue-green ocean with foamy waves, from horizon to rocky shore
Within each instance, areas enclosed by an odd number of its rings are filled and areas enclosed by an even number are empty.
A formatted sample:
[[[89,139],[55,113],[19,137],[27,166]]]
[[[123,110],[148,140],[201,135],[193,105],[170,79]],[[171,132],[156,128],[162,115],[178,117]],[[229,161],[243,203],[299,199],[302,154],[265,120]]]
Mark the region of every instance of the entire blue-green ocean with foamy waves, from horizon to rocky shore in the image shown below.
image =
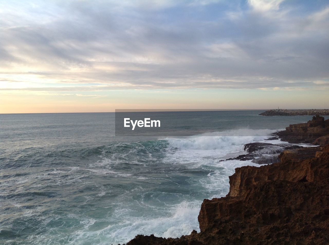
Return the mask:
[[[260,112],[172,112],[184,137],[115,136],[114,113],[0,114],[0,244],[199,231],[203,199],[225,196],[235,168],[259,166],[218,160],[311,119]]]

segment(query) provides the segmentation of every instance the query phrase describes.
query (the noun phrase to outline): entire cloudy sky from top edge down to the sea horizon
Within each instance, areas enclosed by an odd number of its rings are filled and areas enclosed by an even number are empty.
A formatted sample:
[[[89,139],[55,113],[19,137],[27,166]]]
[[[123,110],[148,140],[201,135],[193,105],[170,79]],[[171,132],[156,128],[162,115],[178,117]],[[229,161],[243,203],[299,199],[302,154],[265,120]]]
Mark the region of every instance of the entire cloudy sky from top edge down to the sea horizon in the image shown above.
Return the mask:
[[[0,0],[0,113],[328,109],[328,0]]]

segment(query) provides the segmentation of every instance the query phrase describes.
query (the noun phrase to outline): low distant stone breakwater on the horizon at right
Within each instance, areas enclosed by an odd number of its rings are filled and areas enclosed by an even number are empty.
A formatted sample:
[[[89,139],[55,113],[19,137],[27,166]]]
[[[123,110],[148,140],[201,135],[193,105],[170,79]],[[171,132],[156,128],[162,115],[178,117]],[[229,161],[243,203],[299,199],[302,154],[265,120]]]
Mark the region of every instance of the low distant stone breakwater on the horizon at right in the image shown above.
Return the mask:
[[[260,113],[261,116],[303,116],[303,115],[329,115],[328,109],[311,109],[311,110],[267,110]]]

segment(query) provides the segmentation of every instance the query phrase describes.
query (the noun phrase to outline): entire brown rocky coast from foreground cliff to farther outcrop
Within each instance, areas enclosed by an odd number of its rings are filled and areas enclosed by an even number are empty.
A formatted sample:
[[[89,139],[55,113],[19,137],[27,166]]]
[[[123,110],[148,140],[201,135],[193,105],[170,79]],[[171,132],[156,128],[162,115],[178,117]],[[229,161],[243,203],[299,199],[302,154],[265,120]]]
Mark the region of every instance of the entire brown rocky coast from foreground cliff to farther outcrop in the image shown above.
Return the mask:
[[[274,136],[324,146],[246,144],[240,160],[257,162],[263,155],[277,160],[236,168],[226,197],[204,199],[199,233],[180,238],[137,235],[127,245],[329,244],[329,144],[319,140],[329,137],[329,119],[317,115]]]

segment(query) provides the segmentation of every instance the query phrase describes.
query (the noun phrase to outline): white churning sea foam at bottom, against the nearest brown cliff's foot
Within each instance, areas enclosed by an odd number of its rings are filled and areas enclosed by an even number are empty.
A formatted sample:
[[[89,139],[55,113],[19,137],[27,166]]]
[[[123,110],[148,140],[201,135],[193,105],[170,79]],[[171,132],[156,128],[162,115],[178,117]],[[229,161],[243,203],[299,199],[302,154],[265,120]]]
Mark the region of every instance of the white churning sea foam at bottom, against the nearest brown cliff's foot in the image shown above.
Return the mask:
[[[89,227],[95,223],[95,220],[86,219],[80,221],[84,225],[83,229],[76,231],[71,236],[69,244],[82,244],[98,237],[97,244],[117,244],[126,243],[135,235],[151,235],[162,237],[180,237],[188,235],[192,230],[200,231],[197,216],[200,211],[199,202],[184,201],[171,208],[171,212],[163,217],[143,218],[143,217],[124,217],[118,228],[109,225],[104,229],[90,231]],[[120,210],[123,212],[123,210]],[[122,213],[124,215],[124,213]],[[90,241],[91,241],[90,240]]]

